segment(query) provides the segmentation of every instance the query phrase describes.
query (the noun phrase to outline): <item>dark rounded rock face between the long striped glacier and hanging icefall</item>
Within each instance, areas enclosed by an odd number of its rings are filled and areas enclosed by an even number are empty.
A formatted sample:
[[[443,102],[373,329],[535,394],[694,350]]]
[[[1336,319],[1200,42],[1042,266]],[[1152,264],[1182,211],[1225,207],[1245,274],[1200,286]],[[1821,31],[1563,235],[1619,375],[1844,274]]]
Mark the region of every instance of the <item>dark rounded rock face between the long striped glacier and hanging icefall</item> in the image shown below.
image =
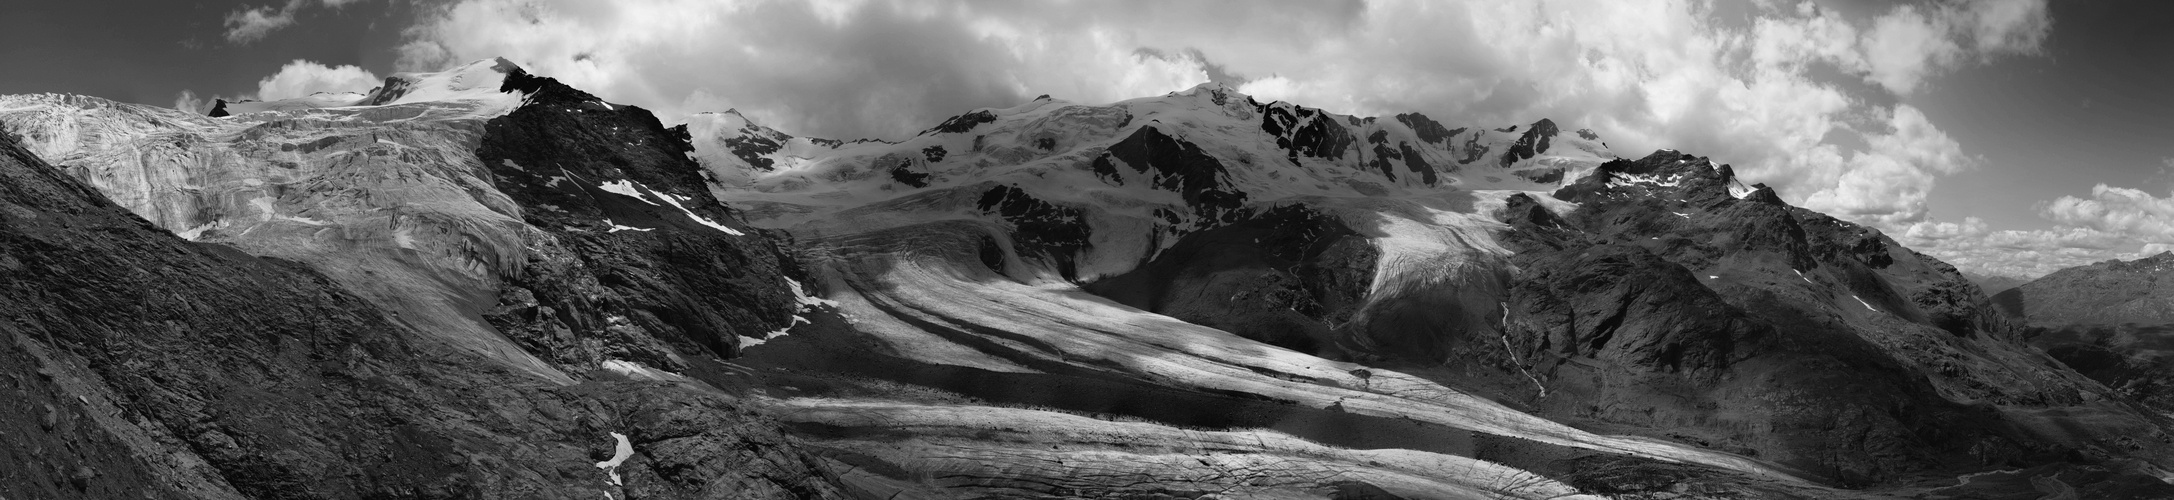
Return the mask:
[[[1191,233],[1146,265],[1085,285],[1098,296],[1298,352],[1341,357],[1335,328],[1365,302],[1380,254],[1300,204]]]

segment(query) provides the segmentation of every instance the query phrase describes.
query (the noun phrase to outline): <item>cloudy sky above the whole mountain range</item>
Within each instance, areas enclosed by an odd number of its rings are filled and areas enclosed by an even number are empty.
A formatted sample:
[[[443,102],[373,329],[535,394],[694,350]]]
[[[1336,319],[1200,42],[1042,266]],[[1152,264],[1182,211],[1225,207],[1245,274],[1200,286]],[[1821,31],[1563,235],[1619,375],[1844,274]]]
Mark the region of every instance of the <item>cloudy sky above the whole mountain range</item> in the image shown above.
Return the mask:
[[[674,122],[900,137],[1215,80],[1335,113],[1674,148],[1974,274],[2174,250],[2163,0],[67,0],[0,93],[204,109],[507,57]]]

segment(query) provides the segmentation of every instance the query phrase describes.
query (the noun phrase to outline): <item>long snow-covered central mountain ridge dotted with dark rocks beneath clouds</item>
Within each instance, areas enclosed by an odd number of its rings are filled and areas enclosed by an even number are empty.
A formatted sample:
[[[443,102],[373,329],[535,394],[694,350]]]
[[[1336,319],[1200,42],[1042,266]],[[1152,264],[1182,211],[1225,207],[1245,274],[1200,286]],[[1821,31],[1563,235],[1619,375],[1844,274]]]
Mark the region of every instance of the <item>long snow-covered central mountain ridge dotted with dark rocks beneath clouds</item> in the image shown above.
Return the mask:
[[[687,130],[717,196],[752,220],[989,183],[1139,213],[1194,213],[1185,204],[1202,200],[1196,189],[1228,193],[1207,196],[1220,200],[1215,213],[1298,196],[1546,191],[1613,159],[1589,130],[1548,120],[1448,128],[1420,113],[1357,117],[1259,102],[1220,83],[1111,104],[1035,98],[974,109],[896,143],[794,137],[730,111],[694,115]],[[1200,159],[1198,170],[1148,165],[1178,157]]]

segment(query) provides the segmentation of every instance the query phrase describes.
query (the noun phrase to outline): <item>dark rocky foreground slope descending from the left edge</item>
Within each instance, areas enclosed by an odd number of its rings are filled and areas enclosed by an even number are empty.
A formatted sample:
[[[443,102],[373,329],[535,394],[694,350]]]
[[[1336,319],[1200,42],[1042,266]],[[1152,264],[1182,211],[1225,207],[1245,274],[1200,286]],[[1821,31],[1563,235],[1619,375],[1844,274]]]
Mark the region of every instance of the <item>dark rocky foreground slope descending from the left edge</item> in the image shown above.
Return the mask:
[[[167,235],[7,139],[0,387],[9,498],[841,496],[730,398],[493,370],[304,265]],[[624,487],[594,467],[609,433],[644,457]]]

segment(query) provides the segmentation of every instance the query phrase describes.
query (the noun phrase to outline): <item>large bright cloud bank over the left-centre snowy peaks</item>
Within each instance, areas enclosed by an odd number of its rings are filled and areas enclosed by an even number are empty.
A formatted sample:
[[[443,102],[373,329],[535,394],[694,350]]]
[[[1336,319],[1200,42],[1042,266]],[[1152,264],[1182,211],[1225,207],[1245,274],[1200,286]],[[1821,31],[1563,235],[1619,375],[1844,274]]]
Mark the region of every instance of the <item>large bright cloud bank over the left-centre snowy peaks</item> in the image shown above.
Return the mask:
[[[1076,13],[1039,13],[1044,7]],[[665,120],[739,109],[828,137],[911,133],[1037,93],[1111,102],[1209,80],[1196,54],[1141,52],[1157,46],[1141,30],[1091,22],[1104,9],[1198,7],[467,0],[415,26],[400,65],[441,70],[507,57]]]

